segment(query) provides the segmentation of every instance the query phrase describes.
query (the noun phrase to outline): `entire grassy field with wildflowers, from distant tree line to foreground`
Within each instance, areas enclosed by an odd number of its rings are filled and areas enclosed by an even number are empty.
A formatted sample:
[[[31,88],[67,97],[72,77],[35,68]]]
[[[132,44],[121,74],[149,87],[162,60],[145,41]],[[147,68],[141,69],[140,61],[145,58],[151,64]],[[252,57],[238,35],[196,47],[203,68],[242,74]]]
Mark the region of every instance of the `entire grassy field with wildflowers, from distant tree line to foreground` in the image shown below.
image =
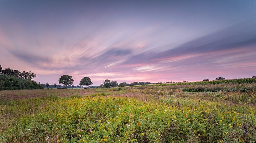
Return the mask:
[[[0,91],[0,142],[256,142],[255,87]]]

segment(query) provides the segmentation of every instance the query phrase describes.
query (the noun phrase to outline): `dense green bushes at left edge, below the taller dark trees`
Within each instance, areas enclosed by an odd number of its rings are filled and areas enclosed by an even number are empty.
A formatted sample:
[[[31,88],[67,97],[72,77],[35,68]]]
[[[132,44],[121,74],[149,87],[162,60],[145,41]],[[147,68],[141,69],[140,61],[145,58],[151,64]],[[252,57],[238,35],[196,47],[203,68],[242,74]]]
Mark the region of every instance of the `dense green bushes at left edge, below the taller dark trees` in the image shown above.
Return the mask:
[[[13,75],[0,74],[0,90],[39,89],[43,86],[31,79],[21,79]]]

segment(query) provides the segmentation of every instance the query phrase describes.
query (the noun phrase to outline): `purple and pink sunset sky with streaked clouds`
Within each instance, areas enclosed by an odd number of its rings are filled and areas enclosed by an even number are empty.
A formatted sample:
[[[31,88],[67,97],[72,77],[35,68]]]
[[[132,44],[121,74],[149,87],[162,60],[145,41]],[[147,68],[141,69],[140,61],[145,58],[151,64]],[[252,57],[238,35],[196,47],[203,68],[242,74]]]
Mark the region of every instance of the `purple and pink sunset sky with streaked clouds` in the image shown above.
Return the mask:
[[[0,65],[40,83],[246,78],[255,55],[255,0],[0,0]]]

